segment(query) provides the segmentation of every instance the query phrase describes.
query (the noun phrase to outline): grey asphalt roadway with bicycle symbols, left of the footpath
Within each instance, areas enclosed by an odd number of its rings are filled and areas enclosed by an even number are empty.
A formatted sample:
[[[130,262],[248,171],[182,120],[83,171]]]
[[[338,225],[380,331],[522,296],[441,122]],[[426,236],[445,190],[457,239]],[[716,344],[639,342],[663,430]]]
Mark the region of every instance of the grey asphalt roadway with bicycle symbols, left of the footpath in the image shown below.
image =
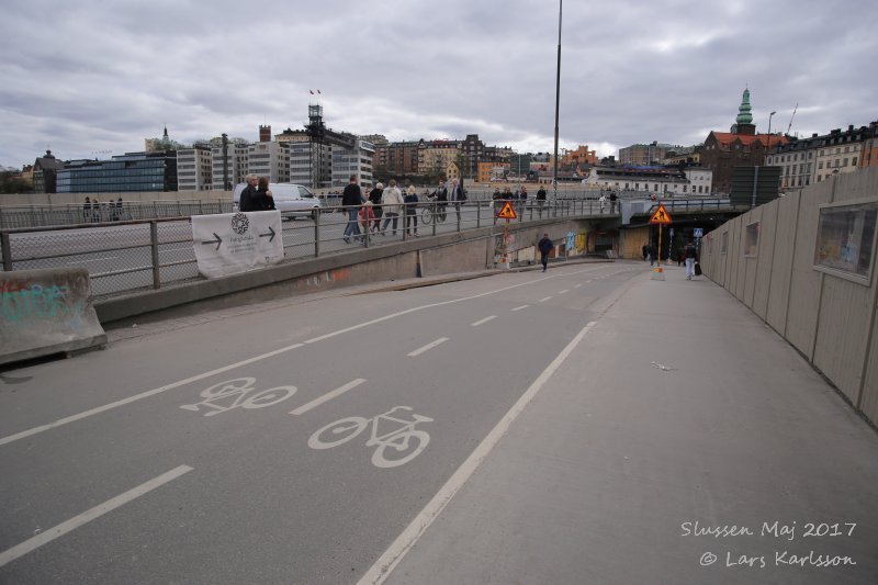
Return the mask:
[[[0,583],[357,583],[643,272],[274,303],[7,371]]]

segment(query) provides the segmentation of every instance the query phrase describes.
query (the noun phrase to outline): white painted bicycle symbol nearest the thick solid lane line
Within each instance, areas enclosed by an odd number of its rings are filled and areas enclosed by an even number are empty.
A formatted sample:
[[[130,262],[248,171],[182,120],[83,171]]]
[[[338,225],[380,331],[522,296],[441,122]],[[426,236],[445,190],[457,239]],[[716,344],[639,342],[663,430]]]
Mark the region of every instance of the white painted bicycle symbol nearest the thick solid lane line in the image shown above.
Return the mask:
[[[367,447],[375,447],[372,464],[376,468],[396,468],[408,463],[420,454],[430,442],[430,435],[418,430],[418,423],[431,423],[432,418],[412,414],[414,420],[405,420],[391,416],[396,410],[412,410],[408,406],[396,406],[373,418],[351,416],[330,423],[317,430],[308,439],[312,449],[331,449],[345,443],[365,430],[372,423],[372,437],[365,441]],[[379,431],[379,426],[382,430]],[[392,449],[390,449],[392,448]]]

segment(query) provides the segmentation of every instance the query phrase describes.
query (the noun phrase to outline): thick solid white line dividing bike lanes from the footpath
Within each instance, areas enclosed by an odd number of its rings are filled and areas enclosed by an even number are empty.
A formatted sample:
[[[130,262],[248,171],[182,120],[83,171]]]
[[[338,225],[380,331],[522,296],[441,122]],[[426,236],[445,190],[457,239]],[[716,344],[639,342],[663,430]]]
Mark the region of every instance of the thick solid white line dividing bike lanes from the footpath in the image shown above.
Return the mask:
[[[488,432],[487,437],[485,437],[479,447],[466,458],[466,461],[461,464],[460,468],[454,472],[454,474],[449,477],[446,484],[439,490],[439,492],[430,499],[427,506],[420,510],[420,513],[412,520],[412,524],[406,527],[405,530],[396,538],[395,541],[390,545],[390,548],[381,555],[381,558],[375,561],[375,564],[365,572],[363,577],[358,582],[358,585],[367,585],[367,584],[378,584],[383,583],[393,572],[399,561],[403,560],[405,554],[412,550],[412,547],[420,539],[421,536],[427,531],[430,525],[439,517],[442,513],[444,507],[448,505],[449,502],[454,497],[454,495],[463,487],[463,484],[472,476],[479,465],[487,459],[487,455],[491,454],[491,451],[496,447],[499,440],[503,438],[504,435],[509,430],[509,427],[513,425],[516,418],[525,410],[527,405],[533,400],[533,397],[542,390],[545,382],[552,376],[552,374],[558,370],[561,364],[564,362],[565,359],[576,349],[576,346],[579,341],[583,340],[585,335],[595,326],[595,322],[588,323],[583,329],[576,334],[576,337],[567,344],[561,353],[552,360],[545,370],[533,381],[533,383],[528,387],[527,391],[518,398],[518,402],[513,405],[508,413],[497,423],[497,426],[494,427],[491,432]]]

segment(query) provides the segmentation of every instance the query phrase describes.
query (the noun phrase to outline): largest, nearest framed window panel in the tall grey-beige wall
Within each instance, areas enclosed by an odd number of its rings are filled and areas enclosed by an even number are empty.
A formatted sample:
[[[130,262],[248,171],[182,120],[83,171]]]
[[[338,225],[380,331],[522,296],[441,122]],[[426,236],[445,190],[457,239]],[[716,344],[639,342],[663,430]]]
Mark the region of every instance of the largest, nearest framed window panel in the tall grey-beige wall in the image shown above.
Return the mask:
[[[868,284],[878,202],[820,209],[814,268],[841,271]]]

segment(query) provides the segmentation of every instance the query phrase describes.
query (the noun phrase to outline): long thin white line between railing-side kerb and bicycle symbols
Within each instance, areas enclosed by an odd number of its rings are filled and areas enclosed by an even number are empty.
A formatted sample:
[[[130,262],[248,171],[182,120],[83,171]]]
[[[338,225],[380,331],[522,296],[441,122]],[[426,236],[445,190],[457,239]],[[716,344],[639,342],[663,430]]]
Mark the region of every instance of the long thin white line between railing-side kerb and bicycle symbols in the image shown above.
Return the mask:
[[[378,318],[370,319],[370,320],[367,320],[367,322],[363,322],[363,323],[360,323],[360,324],[357,324],[357,325],[352,325],[350,327],[345,327],[344,329],[338,329],[338,330],[328,333],[326,335],[322,335],[319,337],[314,337],[312,339],[307,339],[307,340],[305,340],[303,342],[293,344],[291,346],[282,347],[280,349],[275,349],[273,351],[269,351],[268,353],[254,356],[252,358],[248,358],[246,360],[241,360],[241,361],[232,363],[229,365],[224,365],[222,368],[217,368],[217,369],[211,370],[209,372],[203,372],[203,373],[200,373],[200,374],[195,374],[195,375],[193,375],[191,378],[187,378],[185,380],[179,380],[177,382],[171,382],[170,384],[166,384],[164,386],[160,386],[160,387],[157,387],[157,389],[153,389],[153,390],[147,390],[146,392],[140,392],[139,394],[135,394],[133,396],[128,396],[127,398],[122,398],[122,400],[112,402],[110,404],[104,404],[103,406],[97,406],[94,408],[90,408],[90,409],[85,410],[82,413],[78,413],[78,414],[70,415],[70,416],[67,416],[67,417],[64,417],[64,418],[59,418],[59,419],[57,419],[57,420],[55,420],[53,423],[48,423],[48,424],[45,424],[45,425],[40,425],[37,427],[32,427],[30,429],[22,430],[21,432],[16,432],[14,435],[9,435],[7,437],[2,437],[2,438],[0,438],[0,447],[2,447],[3,445],[8,445],[8,443],[11,443],[11,442],[18,441],[20,439],[24,439],[26,437],[32,437],[34,435],[38,435],[38,434],[44,432],[46,430],[50,430],[50,429],[54,429],[54,428],[57,428],[57,427],[61,427],[61,426],[68,425],[70,423],[76,423],[77,420],[81,420],[81,419],[88,418],[90,416],[94,416],[94,415],[98,415],[98,414],[101,414],[101,413],[105,413],[106,410],[112,410],[113,408],[117,408],[117,407],[124,406],[126,404],[131,404],[131,403],[134,403],[134,402],[137,402],[137,401],[142,401],[144,398],[148,398],[149,396],[154,396],[156,394],[161,394],[162,392],[167,392],[167,391],[173,390],[176,387],[180,387],[180,386],[183,386],[183,385],[187,385],[187,384],[191,384],[192,382],[198,382],[199,380],[203,380],[205,378],[210,378],[210,376],[215,375],[215,374],[227,372],[227,371],[234,370],[236,368],[241,368],[244,365],[249,365],[250,363],[255,363],[255,362],[258,362],[258,361],[261,361],[261,360],[264,360],[264,359],[268,359],[268,358],[272,358],[272,357],[281,355],[281,353],[285,353],[285,352],[291,351],[293,349],[303,347],[306,344],[307,345],[316,344],[317,341],[323,341],[325,339],[330,339],[330,338],[339,336],[339,335],[345,335],[345,334],[348,334],[350,331],[354,331],[357,329],[361,329],[363,327],[368,327],[370,325],[374,325],[376,323],[383,323],[385,320],[390,320],[390,319],[393,319],[393,318],[396,318],[396,317],[408,315],[409,313],[415,313],[415,312],[418,312],[418,311],[425,311],[427,308],[434,308],[434,307],[437,307],[437,306],[446,306],[446,305],[451,305],[451,304],[455,304],[455,303],[463,303],[465,301],[472,301],[474,299],[481,299],[483,296],[488,296],[488,295],[492,295],[492,294],[506,292],[506,291],[509,291],[509,290],[513,290],[513,289],[517,289],[519,286],[528,286],[530,284],[537,284],[538,282],[542,282],[543,280],[552,279],[552,278],[555,278],[555,277],[562,277],[562,275],[572,277],[572,275],[575,275],[575,274],[582,274],[584,272],[593,272],[593,271],[599,270],[599,269],[600,269],[600,267],[598,267],[598,268],[586,268],[586,269],[577,270],[577,271],[574,271],[574,272],[565,272],[564,274],[555,273],[555,274],[542,277],[540,279],[534,279],[534,280],[531,280],[531,281],[527,281],[527,282],[519,282],[518,284],[511,284],[509,286],[503,286],[500,289],[495,289],[493,291],[487,291],[487,292],[484,292],[484,293],[474,294],[474,295],[471,295],[471,296],[463,296],[461,299],[452,299],[450,301],[441,301],[439,303],[429,303],[429,304],[426,304],[426,305],[420,305],[420,306],[415,306],[415,307],[412,307],[412,308],[406,308],[404,311],[397,311],[396,313],[391,313],[390,315],[384,315],[383,317],[378,317]]]

